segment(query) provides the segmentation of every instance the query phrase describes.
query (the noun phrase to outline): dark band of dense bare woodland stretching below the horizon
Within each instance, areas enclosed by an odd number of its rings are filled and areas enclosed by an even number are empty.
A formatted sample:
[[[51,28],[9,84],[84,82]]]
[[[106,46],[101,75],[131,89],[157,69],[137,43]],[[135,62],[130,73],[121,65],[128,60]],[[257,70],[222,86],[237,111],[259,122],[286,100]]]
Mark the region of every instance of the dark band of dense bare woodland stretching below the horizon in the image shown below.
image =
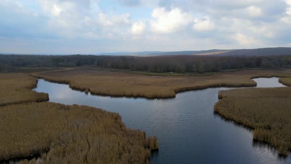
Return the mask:
[[[282,56],[96,56],[0,55],[0,72],[20,68],[97,67],[149,72],[219,72],[241,68],[291,68],[291,55]]]

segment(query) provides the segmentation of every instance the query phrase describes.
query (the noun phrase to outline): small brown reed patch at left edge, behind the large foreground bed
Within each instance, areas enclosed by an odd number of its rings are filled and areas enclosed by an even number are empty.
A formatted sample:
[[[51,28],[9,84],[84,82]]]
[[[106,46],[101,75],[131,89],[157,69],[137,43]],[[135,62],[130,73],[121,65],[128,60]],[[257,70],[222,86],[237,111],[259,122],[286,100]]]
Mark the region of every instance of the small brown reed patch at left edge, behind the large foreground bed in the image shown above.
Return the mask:
[[[48,94],[32,91],[37,79],[26,74],[0,73],[0,106],[47,101]]]

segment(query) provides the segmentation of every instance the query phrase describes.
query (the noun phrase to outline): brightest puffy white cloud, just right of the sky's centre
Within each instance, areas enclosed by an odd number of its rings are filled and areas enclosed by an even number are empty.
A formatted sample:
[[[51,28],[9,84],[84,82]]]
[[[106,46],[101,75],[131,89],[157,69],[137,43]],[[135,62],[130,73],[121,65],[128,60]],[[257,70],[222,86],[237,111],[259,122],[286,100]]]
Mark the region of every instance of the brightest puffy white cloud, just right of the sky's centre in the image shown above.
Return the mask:
[[[165,8],[155,8],[151,16],[155,18],[150,21],[151,30],[155,33],[173,33],[191,21],[191,16],[183,13],[179,8],[173,8],[170,11]]]

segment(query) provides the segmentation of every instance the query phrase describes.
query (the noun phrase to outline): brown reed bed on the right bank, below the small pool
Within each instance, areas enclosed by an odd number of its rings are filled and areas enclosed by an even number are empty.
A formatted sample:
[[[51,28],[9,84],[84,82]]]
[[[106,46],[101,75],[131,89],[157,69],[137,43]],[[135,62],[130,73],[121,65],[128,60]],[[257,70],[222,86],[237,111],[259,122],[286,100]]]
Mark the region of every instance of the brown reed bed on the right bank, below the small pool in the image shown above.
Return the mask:
[[[219,92],[215,111],[253,127],[256,140],[270,143],[279,154],[291,150],[291,87],[244,88]]]

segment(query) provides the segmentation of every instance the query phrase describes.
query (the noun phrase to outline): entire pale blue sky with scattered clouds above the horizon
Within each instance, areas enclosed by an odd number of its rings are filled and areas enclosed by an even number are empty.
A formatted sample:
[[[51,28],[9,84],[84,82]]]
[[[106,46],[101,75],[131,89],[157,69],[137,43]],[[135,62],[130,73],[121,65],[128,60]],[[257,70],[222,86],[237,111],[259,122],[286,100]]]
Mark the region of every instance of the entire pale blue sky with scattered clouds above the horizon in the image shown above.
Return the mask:
[[[291,0],[0,0],[0,52],[291,47]]]

